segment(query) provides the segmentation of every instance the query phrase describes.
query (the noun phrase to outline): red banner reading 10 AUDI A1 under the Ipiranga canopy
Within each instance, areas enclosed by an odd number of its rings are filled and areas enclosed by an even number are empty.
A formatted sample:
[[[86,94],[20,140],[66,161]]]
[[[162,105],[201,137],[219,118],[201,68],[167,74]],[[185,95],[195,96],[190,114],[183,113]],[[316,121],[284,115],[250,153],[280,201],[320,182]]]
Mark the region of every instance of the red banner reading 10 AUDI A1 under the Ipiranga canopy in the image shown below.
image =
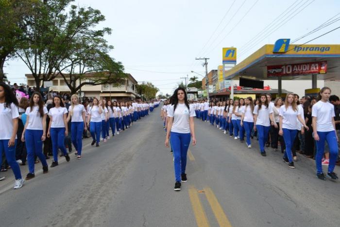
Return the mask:
[[[295,76],[306,74],[323,74],[327,71],[327,61],[301,64],[267,66],[267,76]]]

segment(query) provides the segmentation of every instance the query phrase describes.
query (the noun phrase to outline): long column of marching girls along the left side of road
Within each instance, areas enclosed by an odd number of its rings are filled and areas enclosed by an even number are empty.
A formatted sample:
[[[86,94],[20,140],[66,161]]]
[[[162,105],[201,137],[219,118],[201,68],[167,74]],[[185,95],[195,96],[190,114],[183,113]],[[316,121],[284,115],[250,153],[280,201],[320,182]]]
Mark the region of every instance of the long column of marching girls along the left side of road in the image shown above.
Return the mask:
[[[98,147],[101,141],[110,139],[110,134],[112,137],[119,135],[121,129],[130,128],[133,122],[148,116],[149,111],[153,112],[159,106],[158,101],[119,103],[97,98],[81,103],[76,94],[69,98],[53,95],[46,99],[40,92],[32,92],[26,97],[21,94],[22,97],[16,97],[16,92],[19,91],[0,83],[0,165],[1,172],[12,169],[14,189],[21,188],[25,180],[36,177],[37,163],[41,163],[43,174],[49,173],[49,156],[53,157],[51,168],[59,165],[60,152],[60,157],[69,162],[67,148],[69,153],[72,152],[72,145],[74,156],[80,160],[86,143],[84,139],[88,138],[87,130],[92,138],[89,145]],[[48,140],[51,144],[46,142]],[[20,170],[20,166],[24,168],[26,163],[27,170]],[[22,171],[27,171],[25,180]],[[0,181],[5,178],[0,175]]]

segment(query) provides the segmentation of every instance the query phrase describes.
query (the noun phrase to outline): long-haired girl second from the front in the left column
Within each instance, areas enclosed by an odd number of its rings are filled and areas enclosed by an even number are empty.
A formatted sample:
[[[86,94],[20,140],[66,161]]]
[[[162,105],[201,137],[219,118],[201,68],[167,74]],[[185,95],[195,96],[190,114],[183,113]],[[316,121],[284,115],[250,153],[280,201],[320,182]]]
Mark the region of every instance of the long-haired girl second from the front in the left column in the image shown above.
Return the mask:
[[[43,154],[43,141],[46,140],[47,108],[44,106],[42,96],[34,92],[30,99],[30,105],[26,109],[26,123],[22,132],[21,141],[26,141],[28,174],[26,180],[34,178],[34,159],[39,157],[43,166],[43,173],[49,171],[46,157]]]

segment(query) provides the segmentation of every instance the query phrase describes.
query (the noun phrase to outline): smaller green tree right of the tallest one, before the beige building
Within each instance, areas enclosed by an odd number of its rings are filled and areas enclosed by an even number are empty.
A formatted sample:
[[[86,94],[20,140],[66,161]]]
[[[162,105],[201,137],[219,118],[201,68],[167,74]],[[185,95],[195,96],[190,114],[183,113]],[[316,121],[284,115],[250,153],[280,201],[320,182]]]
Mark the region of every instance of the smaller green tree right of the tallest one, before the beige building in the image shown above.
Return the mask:
[[[73,13],[73,17],[77,14]],[[58,68],[71,94],[85,85],[119,85],[124,82],[124,68],[109,56],[113,46],[109,46],[103,37],[110,32],[109,29],[88,32],[72,41],[68,56]]]

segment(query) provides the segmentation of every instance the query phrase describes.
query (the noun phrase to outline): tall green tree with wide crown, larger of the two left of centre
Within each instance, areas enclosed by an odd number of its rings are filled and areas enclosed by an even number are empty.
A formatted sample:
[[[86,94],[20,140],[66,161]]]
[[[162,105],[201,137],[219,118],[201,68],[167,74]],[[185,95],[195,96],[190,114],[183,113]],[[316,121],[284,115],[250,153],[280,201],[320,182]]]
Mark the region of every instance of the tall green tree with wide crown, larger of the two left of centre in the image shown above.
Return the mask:
[[[75,51],[82,37],[88,38],[95,35],[100,37],[111,32],[109,28],[92,29],[105,20],[99,10],[70,5],[72,1],[43,0],[41,2],[40,0],[41,4],[35,8],[34,17],[26,21],[28,26],[24,34],[26,39],[21,42],[17,55],[31,71],[37,89],[43,86],[44,81],[53,80],[58,72],[72,71],[70,69],[72,66],[67,65],[74,60],[74,56],[70,56],[70,50]],[[103,55],[105,55],[104,62],[97,64],[107,65],[110,62],[107,53],[104,52]],[[94,58],[98,59],[98,56]],[[77,59],[71,65],[80,62],[81,60]],[[91,63],[85,64],[85,68],[88,65]],[[68,83],[71,81],[69,80]]]

